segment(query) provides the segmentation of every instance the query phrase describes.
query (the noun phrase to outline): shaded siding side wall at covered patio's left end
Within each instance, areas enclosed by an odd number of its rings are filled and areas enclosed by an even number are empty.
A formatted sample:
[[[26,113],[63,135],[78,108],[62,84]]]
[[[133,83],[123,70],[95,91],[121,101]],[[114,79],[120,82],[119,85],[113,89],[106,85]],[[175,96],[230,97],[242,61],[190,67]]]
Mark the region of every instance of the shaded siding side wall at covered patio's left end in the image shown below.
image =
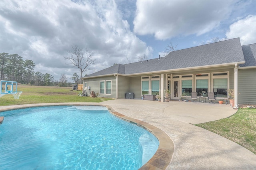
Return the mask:
[[[124,99],[125,93],[130,92],[129,78],[118,75],[118,99]]]

